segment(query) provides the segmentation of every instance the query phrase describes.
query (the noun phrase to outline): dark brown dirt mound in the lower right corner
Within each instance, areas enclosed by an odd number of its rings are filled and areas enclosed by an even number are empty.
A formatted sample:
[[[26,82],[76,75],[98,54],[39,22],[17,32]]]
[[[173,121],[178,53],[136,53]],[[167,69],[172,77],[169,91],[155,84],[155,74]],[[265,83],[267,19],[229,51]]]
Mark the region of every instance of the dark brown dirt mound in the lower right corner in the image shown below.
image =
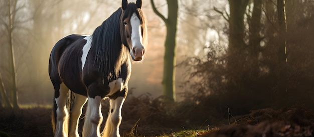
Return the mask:
[[[301,106],[252,110],[231,125],[200,136],[313,136],[314,113]],[[235,118],[236,119],[236,118]]]

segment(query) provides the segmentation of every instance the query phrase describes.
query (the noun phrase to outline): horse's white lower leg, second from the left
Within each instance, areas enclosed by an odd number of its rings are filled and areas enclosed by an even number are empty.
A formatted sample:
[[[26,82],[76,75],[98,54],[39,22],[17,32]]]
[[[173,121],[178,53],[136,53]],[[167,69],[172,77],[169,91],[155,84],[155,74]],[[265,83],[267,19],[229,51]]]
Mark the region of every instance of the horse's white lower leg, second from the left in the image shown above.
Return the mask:
[[[78,120],[82,114],[82,107],[86,103],[87,97],[80,94],[75,94],[74,102],[70,114],[70,131],[69,136],[79,137]]]

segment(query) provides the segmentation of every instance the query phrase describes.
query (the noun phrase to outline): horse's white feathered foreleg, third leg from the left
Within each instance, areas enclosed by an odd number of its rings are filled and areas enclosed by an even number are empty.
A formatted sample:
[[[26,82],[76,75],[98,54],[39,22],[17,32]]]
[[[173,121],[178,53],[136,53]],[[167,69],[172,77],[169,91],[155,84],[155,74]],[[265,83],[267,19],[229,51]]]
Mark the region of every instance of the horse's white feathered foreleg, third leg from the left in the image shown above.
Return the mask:
[[[101,97],[88,97],[85,122],[82,136],[100,136],[100,123],[102,122]]]

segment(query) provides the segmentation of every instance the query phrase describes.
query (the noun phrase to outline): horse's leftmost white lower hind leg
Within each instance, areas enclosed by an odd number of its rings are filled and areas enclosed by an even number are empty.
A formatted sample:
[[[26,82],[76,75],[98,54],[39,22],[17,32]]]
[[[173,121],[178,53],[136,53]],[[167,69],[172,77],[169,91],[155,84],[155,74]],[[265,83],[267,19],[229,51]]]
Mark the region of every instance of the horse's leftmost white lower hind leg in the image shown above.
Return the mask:
[[[56,123],[56,131],[55,136],[68,136],[68,120],[69,120],[69,114],[66,107],[67,102],[67,93],[69,91],[69,88],[64,84],[60,84],[60,95],[56,99],[57,103],[57,123]]]

